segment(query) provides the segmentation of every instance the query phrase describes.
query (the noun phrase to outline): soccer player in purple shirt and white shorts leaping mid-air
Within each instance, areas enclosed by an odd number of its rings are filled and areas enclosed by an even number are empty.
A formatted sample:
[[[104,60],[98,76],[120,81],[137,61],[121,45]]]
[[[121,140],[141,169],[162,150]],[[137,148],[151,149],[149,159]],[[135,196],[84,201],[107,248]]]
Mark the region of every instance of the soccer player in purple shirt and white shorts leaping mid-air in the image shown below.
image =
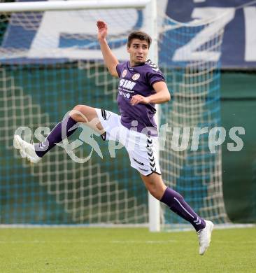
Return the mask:
[[[63,140],[63,135],[69,137],[73,134],[79,123],[92,127],[104,140],[120,141],[127,149],[131,167],[141,174],[150,194],[193,225],[199,237],[199,254],[203,255],[211,241],[213,223],[197,215],[179,193],[166,187],[161,176],[156,153],[155,104],[168,102],[171,96],[162,72],[147,60],[151,38],[142,31],[129,34],[129,61],[119,63],[106,41],[106,22],[98,21],[97,27],[108,71],[112,76],[120,78],[117,99],[120,116],[105,109],[77,105],[69,116],[55,126],[43,143],[29,144],[15,135],[14,146],[20,150],[22,157],[36,163]]]

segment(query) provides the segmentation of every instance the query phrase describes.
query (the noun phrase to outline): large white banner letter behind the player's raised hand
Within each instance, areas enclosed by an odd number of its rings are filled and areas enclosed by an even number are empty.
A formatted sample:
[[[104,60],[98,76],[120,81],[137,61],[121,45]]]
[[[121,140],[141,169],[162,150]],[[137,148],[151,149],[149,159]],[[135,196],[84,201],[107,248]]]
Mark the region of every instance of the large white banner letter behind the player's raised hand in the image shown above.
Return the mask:
[[[123,16],[117,16],[117,13],[122,14],[123,10],[123,8],[110,9],[107,13],[106,10],[97,10],[97,13],[94,13],[95,10],[45,11],[26,57],[102,59],[100,49],[91,50],[89,48],[91,45],[98,44],[95,18],[101,18],[101,20],[109,22],[109,36],[129,33],[133,30],[134,22],[138,20],[138,13],[135,8],[125,10],[129,22],[127,21],[124,24]],[[109,18],[115,19],[111,22]],[[60,37],[65,34],[81,34],[81,40],[83,40],[83,36],[95,35],[95,40],[90,45],[87,45],[87,48],[86,45],[83,48],[79,48],[75,43],[73,46],[60,48]],[[120,60],[127,59],[126,48],[127,45],[114,48],[113,53]]]

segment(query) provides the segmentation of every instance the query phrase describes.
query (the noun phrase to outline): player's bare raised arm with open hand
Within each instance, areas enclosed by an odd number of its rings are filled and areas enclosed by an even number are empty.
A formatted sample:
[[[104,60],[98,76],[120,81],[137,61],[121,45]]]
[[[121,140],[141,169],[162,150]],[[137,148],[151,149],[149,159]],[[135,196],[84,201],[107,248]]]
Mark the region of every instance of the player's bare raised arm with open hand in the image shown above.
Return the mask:
[[[118,59],[113,55],[113,52],[108,46],[106,41],[106,36],[108,35],[108,25],[104,21],[97,21],[98,27],[98,40],[101,45],[101,52],[104,58],[104,62],[108,68],[109,73],[112,76],[118,78],[118,72],[116,71],[116,66],[118,64]]]

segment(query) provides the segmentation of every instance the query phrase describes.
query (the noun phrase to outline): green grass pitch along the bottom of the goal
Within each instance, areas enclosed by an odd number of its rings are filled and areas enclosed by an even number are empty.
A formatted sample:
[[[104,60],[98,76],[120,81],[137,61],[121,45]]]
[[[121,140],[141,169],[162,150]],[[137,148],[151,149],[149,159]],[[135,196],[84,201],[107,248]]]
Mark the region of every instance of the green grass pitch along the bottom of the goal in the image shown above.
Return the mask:
[[[1,228],[0,272],[256,272],[256,228],[195,232],[145,228]]]

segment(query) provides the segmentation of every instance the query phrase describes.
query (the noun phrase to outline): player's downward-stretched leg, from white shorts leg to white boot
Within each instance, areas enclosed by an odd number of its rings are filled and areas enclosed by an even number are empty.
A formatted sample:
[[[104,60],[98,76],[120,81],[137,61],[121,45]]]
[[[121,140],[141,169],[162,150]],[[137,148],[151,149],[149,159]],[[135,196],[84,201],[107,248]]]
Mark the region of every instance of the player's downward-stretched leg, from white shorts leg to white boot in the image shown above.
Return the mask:
[[[124,129],[123,129],[124,130]],[[126,129],[125,129],[126,130]],[[123,141],[129,153],[131,167],[141,174],[141,178],[150,194],[166,204],[171,211],[192,224],[199,237],[199,254],[203,255],[211,241],[213,223],[201,218],[182,195],[166,187],[162,180],[159,159],[157,155],[157,137],[147,137],[135,131],[129,131],[129,143]]]

